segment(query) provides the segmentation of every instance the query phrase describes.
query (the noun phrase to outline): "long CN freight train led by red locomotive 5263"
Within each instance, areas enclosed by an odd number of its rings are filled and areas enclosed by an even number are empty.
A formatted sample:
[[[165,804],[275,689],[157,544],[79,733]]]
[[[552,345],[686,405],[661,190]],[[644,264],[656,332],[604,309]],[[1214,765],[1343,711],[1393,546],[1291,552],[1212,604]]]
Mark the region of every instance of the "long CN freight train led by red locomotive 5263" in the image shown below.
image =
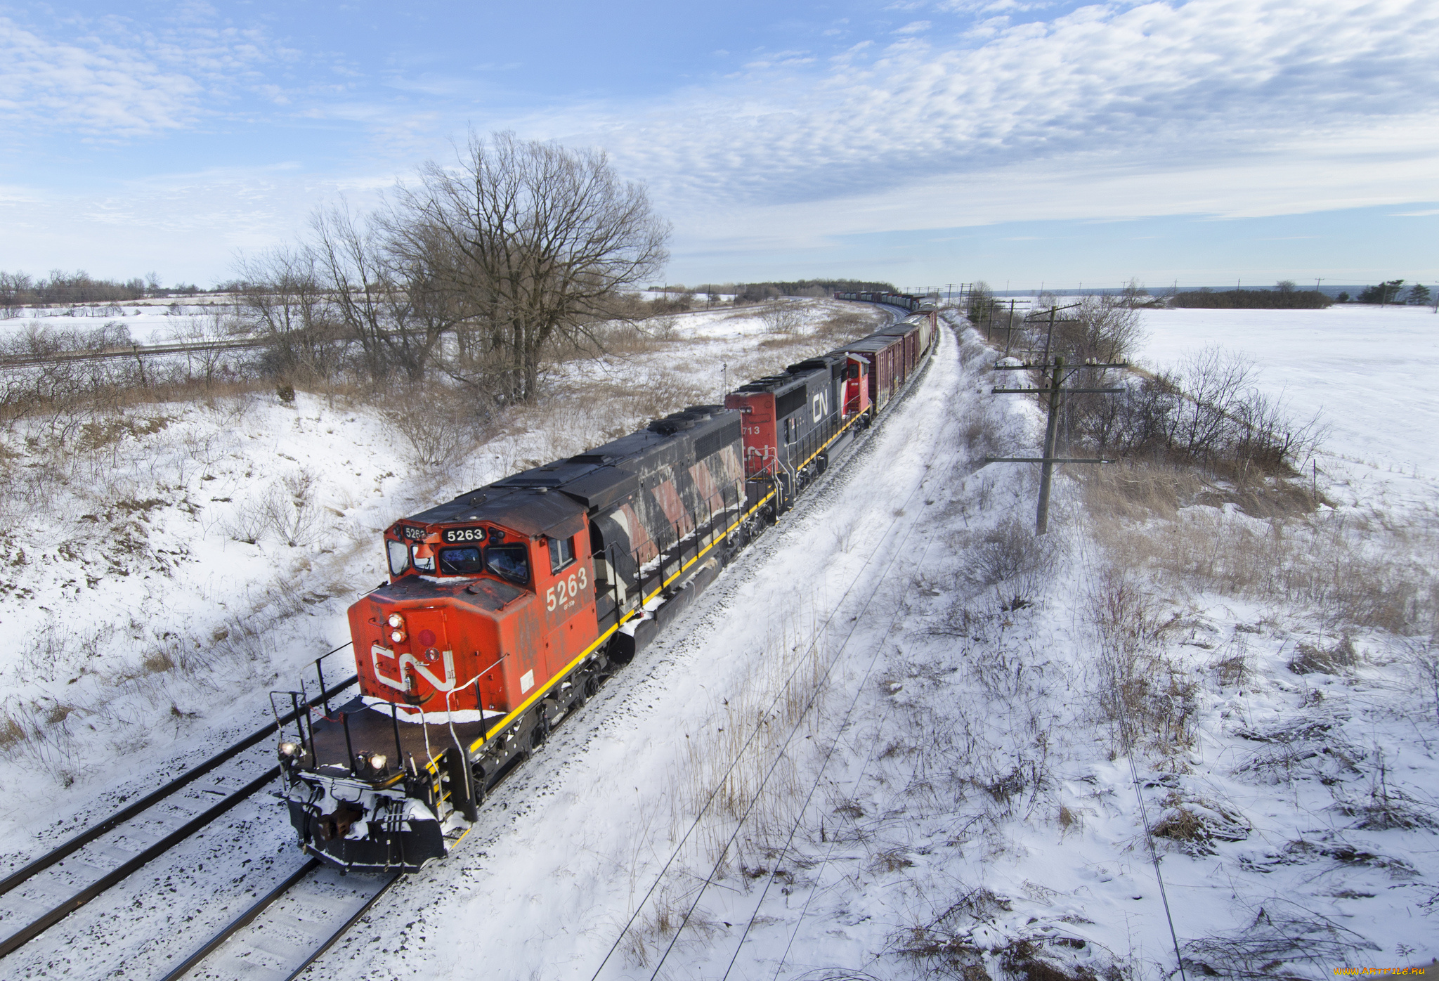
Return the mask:
[[[299,847],[345,870],[446,856],[485,795],[868,429],[938,339],[904,319],[584,453],[394,521],[348,608],[358,693],[273,692]],[[321,690],[325,679],[321,673]]]

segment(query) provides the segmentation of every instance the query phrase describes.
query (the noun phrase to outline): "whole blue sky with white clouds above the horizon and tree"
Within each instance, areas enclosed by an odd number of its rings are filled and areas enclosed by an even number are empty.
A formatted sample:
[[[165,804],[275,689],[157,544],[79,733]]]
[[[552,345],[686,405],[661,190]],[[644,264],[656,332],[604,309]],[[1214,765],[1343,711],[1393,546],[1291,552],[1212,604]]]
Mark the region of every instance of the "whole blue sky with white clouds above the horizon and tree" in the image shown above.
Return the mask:
[[[469,128],[671,280],[1439,279],[1433,3],[0,3],[0,269],[213,283]]]

